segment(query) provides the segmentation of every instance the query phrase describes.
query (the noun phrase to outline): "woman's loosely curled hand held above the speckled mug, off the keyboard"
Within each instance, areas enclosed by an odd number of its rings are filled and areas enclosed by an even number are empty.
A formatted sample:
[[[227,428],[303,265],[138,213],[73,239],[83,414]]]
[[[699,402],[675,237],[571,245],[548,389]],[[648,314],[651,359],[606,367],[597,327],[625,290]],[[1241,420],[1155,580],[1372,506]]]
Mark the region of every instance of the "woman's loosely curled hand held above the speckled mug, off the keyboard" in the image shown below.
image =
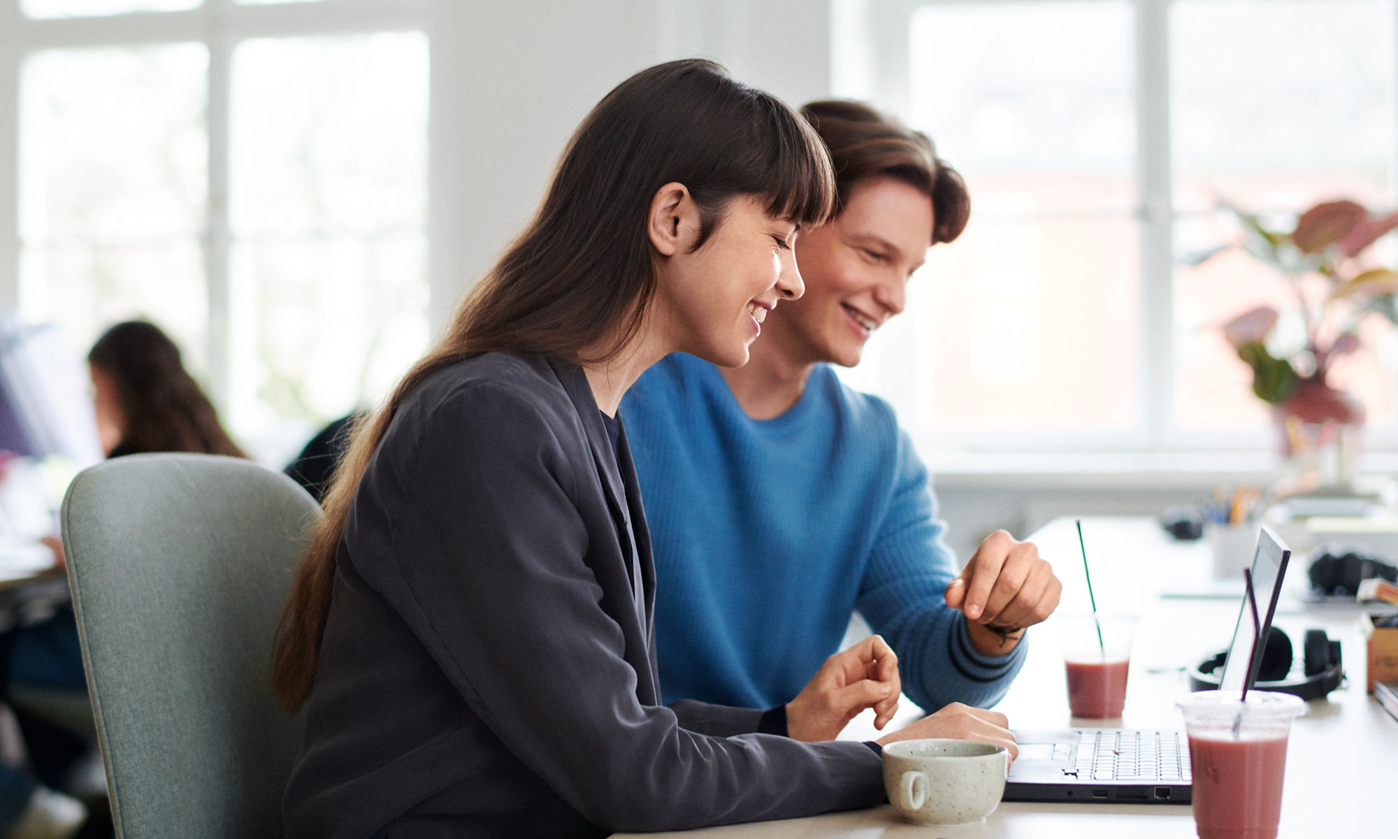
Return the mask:
[[[878,635],[825,660],[795,699],[787,702],[787,736],[816,743],[835,740],[865,708],[874,709],[874,727],[882,729],[898,710],[902,684],[898,656]]]

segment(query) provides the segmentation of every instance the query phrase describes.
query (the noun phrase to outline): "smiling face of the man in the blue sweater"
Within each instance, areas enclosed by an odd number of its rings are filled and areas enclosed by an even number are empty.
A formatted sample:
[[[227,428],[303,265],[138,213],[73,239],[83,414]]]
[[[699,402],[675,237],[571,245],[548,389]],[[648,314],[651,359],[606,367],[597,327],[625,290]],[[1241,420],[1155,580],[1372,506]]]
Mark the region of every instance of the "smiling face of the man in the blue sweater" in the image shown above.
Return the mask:
[[[800,364],[857,365],[870,336],[903,310],[931,236],[931,197],[892,178],[860,182],[833,221],[801,234],[805,296],[781,308],[766,340]]]

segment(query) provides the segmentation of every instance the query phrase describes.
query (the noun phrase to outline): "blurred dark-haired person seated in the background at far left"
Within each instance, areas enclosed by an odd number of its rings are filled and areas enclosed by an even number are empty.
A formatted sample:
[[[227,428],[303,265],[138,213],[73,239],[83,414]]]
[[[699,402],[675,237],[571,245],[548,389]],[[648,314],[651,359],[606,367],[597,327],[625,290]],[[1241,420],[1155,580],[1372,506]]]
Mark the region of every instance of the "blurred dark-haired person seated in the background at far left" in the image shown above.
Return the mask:
[[[88,352],[88,372],[98,436],[108,457],[150,452],[246,457],[185,369],[179,347],[154,323],[129,320],[108,329]],[[45,544],[62,565],[62,543],[49,537]],[[92,736],[11,701],[15,688],[87,695],[70,603],[48,619],[0,635],[0,699],[14,710],[28,754],[27,769],[0,765],[0,836],[73,836],[82,828],[85,807],[55,790],[73,786],[75,768],[92,754]]]

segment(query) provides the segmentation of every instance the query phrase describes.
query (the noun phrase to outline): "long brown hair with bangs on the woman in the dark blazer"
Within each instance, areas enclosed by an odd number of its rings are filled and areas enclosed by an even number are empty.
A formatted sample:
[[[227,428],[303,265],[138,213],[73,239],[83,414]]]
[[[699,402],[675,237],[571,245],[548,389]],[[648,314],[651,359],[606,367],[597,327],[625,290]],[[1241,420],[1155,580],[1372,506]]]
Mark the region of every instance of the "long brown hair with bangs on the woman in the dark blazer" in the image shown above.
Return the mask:
[[[636,334],[656,285],[646,236],[651,197],[682,183],[700,208],[702,246],[727,203],[759,196],[773,217],[825,222],[830,162],[788,105],[734,81],[712,62],[632,76],[573,133],[534,220],[456,310],[446,334],[354,432],[277,632],[273,691],[288,710],[310,695],[330,611],[340,534],[394,411],[426,376],[481,352],[605,361]],[[619,334],[601,358],[586,347]]]

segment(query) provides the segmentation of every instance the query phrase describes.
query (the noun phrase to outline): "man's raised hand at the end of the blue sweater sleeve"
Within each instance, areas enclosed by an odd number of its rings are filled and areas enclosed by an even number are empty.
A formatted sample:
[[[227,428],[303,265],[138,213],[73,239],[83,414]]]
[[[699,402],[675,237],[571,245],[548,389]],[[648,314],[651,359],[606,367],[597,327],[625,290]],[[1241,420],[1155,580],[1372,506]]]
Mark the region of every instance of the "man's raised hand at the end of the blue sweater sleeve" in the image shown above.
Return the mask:
[[[986,537],[966,568],[946,585],[946,605],[966,615],[972,645],[987,656],[1015,649],[1025,626],[1058,607],[1062,583],[1033,543],[1004,530]]]

